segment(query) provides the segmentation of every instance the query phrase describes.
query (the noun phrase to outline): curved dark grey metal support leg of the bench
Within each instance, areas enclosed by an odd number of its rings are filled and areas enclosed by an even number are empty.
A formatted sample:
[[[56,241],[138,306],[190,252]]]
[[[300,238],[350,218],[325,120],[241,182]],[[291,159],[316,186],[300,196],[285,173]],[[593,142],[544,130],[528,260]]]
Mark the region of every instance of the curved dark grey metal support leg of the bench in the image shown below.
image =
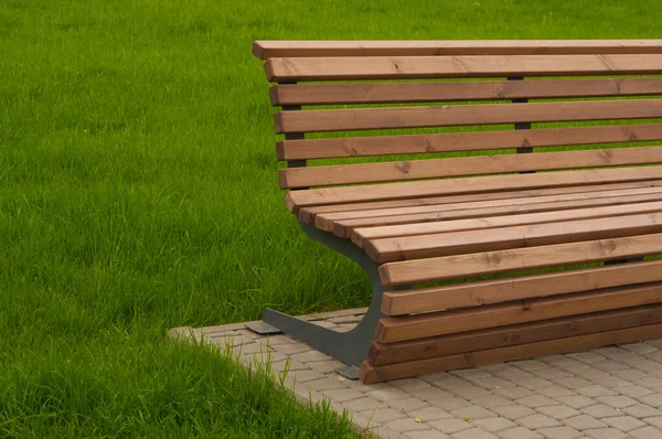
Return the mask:
[[[301,228],[311,239],[349,257],[367,272],[373,290],[370,308],[363,320],[349,332],[337,332],[270,309],[265,309],[263,321],[344,364],[359,367],[365,360],[367,350],[375,338],[377,322],[384,317],[382,314],[382,295],[389,288],[382,286],[377,272],[378,265],[351,240],[303,223],[301,223]]]

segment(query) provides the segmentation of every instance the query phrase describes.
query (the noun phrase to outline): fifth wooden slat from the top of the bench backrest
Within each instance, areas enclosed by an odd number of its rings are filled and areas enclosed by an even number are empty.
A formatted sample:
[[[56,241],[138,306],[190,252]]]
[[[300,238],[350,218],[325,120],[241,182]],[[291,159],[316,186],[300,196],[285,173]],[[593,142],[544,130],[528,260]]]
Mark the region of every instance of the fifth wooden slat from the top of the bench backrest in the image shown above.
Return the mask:
[[[516,131],[445,132],[434,135],[345,137],[277,142],[278,160],[427,154],[433,152],[564,147],[662,139],[662,124]]]

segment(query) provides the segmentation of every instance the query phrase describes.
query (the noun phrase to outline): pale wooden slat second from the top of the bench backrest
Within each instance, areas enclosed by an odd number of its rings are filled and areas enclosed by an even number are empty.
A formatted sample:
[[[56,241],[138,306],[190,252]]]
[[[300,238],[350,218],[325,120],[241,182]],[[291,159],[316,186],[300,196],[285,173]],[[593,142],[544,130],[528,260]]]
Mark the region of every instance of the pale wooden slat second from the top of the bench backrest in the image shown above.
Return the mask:
[[[645,75],[661,63],[660,54],[273,57],[265,73],[270,82]]]

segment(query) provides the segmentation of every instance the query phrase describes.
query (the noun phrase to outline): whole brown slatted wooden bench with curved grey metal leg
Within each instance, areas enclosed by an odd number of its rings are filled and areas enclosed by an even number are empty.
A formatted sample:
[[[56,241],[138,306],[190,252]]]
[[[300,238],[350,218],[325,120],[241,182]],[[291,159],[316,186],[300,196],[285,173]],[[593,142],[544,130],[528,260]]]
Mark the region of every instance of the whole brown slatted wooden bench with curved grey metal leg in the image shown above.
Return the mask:
[[[364,383],[662,335],[662,40],[253,53],[287,207],[373,282],[348,333],[266,323]]]

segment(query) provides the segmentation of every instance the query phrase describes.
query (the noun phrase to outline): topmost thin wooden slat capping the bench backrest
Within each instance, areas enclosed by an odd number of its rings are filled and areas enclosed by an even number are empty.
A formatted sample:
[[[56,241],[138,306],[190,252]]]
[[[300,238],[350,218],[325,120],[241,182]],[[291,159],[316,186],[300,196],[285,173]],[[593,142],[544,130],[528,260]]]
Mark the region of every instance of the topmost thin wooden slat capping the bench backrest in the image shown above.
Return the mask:
[[[253,54],[270,57],[434,56],[662,53],[662,40],[409,40],[256,41]]]

